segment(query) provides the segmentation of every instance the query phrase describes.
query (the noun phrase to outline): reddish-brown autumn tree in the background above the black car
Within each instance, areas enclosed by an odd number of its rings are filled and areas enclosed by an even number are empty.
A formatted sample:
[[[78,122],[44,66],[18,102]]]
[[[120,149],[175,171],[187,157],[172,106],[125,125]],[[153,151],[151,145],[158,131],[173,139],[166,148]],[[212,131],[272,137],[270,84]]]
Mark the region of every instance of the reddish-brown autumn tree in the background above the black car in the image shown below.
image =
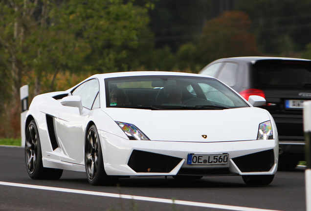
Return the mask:
[[[259,55],[250,27],[251,21],[243,12],[224,12],[219,18],[207,21],[197,47],[200,63],[206,65],[225,57]]]

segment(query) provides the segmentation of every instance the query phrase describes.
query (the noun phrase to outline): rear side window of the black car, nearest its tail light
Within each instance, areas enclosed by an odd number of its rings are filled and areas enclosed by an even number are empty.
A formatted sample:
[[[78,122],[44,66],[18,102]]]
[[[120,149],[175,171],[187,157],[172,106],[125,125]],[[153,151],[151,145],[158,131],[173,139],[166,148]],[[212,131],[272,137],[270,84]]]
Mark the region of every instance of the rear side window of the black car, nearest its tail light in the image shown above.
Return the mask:
[[[217,78],[228,86],[234,86],[237,81],[237,67],[237,63],[225,63]]]

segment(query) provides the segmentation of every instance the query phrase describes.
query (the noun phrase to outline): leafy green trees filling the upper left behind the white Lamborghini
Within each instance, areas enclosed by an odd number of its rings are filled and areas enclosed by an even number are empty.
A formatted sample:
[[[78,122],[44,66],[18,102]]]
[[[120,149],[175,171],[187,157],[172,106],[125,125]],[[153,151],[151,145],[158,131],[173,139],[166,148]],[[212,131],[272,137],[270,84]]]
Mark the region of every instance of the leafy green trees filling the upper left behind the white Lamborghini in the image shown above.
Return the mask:
[[[133,0],[0,0],[0,70],[11,92],[1,103],[12,102],[16,120],[23,83],[37,95],[55,90],[61,71],[104,73],[141,65],[137,48],[146,53],[153,46],[148,21],[147,8]]]

